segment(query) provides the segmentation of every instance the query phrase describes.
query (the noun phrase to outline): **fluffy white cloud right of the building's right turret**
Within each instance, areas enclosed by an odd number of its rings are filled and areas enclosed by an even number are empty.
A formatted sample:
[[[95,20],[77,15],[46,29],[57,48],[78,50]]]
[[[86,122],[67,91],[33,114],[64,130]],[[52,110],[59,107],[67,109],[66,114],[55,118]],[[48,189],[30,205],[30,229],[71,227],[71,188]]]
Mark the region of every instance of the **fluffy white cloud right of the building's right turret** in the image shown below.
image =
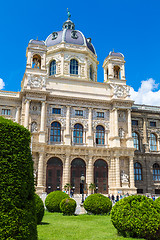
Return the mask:
[[[137,92],[131,87],[131,99],[133,99],[136,104],[160,106],[160,90],[157,89],[158,85],[153,78],[142,81]],[[157,91],[155,91],[156,89]]]

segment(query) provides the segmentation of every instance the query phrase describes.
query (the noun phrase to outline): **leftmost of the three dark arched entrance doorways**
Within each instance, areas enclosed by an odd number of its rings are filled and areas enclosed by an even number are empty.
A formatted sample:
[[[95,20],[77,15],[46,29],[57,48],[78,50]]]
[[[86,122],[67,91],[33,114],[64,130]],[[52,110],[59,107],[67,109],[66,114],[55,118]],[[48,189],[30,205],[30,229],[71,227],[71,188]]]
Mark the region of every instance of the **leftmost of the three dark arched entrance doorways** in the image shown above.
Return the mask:
[[[47,162],[46,192],[62,189],[63,163],[60,158],[52,157]]]

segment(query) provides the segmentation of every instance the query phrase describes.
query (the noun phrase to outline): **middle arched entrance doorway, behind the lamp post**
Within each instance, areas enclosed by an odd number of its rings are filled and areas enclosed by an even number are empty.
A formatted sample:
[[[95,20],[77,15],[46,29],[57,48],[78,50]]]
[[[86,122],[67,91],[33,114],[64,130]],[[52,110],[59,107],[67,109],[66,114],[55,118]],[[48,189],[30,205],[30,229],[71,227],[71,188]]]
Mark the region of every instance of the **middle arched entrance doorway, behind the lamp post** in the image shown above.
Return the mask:
[[[71,163],[71,186],[74,193],[80,193],[81,176],[86,179],[86,163],[81,158],[75,158]]]

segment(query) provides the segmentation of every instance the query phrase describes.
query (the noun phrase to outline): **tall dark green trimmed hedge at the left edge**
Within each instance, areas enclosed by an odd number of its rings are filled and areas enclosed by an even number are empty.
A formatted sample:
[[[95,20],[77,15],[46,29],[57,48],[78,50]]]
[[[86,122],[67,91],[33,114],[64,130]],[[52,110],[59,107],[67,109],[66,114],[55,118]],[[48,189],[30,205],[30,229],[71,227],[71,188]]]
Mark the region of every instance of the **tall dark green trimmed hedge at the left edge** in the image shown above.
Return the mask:
[[[30,133],[0,117],[0,239],[36,240]]]

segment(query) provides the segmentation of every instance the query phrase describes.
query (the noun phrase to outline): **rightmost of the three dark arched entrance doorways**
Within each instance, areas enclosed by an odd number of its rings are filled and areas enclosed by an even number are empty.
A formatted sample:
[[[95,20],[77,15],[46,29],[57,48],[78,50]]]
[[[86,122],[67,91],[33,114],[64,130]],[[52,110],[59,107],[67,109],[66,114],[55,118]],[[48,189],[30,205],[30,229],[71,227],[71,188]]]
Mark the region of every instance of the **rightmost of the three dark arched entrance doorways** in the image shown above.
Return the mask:
[[[108,193],[108,164],[98,159],[94,163],[94,184],[99,193]]]

